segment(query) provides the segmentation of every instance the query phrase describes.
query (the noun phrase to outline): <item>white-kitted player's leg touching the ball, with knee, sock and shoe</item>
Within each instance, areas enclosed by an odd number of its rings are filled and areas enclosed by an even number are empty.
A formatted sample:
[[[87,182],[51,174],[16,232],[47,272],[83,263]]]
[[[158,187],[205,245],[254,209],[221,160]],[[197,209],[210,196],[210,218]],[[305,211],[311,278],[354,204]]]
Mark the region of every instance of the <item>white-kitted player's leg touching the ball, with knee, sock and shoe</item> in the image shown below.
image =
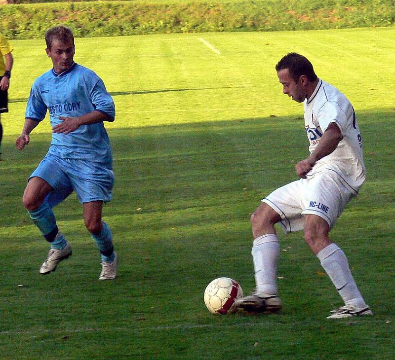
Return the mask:
[[[274,224],[280,219],[280,216],[265,203],[262,203],[251,216],[254,237],[251,254],[256,291],[235,302],[238,309],[247,313],[275,313],[281,309],[276,275],[279,243],[274,228]]]

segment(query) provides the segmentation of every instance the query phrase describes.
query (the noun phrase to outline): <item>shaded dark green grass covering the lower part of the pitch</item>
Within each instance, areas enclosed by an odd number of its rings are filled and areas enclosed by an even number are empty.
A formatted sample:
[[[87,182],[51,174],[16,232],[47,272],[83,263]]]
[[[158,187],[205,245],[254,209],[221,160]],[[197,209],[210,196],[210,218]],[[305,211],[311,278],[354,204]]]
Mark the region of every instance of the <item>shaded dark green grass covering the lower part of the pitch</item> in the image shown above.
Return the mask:
[[[388,194],[395,192],[391,114],[359,116],[372,192],[383,191],[383,183]],[[281,236],[286,252],[281,252],[278,266],[284,301],[279,315],[218,318],[204,308],[204,287],[215,277],[230,276],[244,291],[253,289],[249,213],[261,196],[296,178],[294,164],[307,154],[303,120],[239,119],[111,129],[109,135],[116,184],[104,216],[121,261],[117,279],[105,284],[97,281],[100,257],[75,196],[55,209],[58,220],[78,219],[60,223],[75,246],[73,256],[55,274],[38,274],[47,244],[20,200],[50,134],[38,134],[22,152],[15,150],[13,138],[5,138],[0,262],[7,276],[0,307],[6,316],[0,330],[9,350],[4,354],[17,348],[29,354],[26,359],[44,351],[58,358],[92,358],[99,351],[102,358],[111,358],[121,344],[124,356],[118,358],[151,359],[154,354],[175,359],[180,354],[177,359],[189,359],[190,354],[204,354],[200,358],[208,359],[215,358],[210,349],[224,348],[227,356],[229,344],[236,344],[246,359],[262,359],[262,354],[271,359],[293,359],[295,354],[304,360],[316,359],[316,354],[345,359],[347,343],[356,344],[353,359],[375,359],[375,354],[394,358],[393,263],[385,261],[394,257],[393,236],[383,227],[380,213],[372,216],[365,207],[354,218],[347,211],[335,234],[342,248],[349,244],[353,249],[348,258],[374,318],[325,322],[326,310],[340,305],[340,298],[301,234]],[[389,196],[366,206],[387,216],[394,213]],[[103,341],[104,350],[99,346]],[[274,348],[279,341],[281,346]]]

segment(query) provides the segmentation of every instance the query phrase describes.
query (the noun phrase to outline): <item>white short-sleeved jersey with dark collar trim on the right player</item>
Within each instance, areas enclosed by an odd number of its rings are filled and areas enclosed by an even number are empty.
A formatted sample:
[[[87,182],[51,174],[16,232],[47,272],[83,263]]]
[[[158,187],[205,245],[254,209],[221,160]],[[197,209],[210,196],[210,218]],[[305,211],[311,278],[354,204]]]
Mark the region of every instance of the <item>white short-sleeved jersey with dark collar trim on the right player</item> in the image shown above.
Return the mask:
[[[357,196],[358,190],[366,178],[362,155],[362,139],[356,121],[356,115],[350,101],[335,87],[318,80],[310,99],[304,102],[305,128],[309,138],[309,151],[312,153],[322,134],[330,123],[340,128],[343,140],[329,155],[318,160],[307,178],[316,173],[337,174],[342,182]]]

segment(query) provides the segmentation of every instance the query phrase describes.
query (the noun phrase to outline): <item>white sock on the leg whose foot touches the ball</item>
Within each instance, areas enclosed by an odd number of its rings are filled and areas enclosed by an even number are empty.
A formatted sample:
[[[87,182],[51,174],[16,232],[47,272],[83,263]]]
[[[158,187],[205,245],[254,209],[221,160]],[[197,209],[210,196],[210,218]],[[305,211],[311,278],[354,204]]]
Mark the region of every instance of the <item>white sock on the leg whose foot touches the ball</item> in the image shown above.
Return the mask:
[[[257,237],[252,247],[256,290],[265,295],[277,294],[277,259],[280,244],[276,234]]]

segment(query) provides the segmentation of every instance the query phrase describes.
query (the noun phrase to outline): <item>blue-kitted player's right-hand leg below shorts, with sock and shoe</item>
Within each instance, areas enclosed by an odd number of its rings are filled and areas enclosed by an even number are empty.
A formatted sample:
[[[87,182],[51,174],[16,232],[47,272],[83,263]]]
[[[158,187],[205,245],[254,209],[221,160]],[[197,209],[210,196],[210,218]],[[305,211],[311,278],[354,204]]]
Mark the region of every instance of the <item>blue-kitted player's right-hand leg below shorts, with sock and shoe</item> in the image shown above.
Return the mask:
[[[101,253],[102,271],[99,280],[112,280],[117,276],[118,255],[114,251],[111,230],[102,220],[102,201],[91,201],[83,204],[85,226]]]

